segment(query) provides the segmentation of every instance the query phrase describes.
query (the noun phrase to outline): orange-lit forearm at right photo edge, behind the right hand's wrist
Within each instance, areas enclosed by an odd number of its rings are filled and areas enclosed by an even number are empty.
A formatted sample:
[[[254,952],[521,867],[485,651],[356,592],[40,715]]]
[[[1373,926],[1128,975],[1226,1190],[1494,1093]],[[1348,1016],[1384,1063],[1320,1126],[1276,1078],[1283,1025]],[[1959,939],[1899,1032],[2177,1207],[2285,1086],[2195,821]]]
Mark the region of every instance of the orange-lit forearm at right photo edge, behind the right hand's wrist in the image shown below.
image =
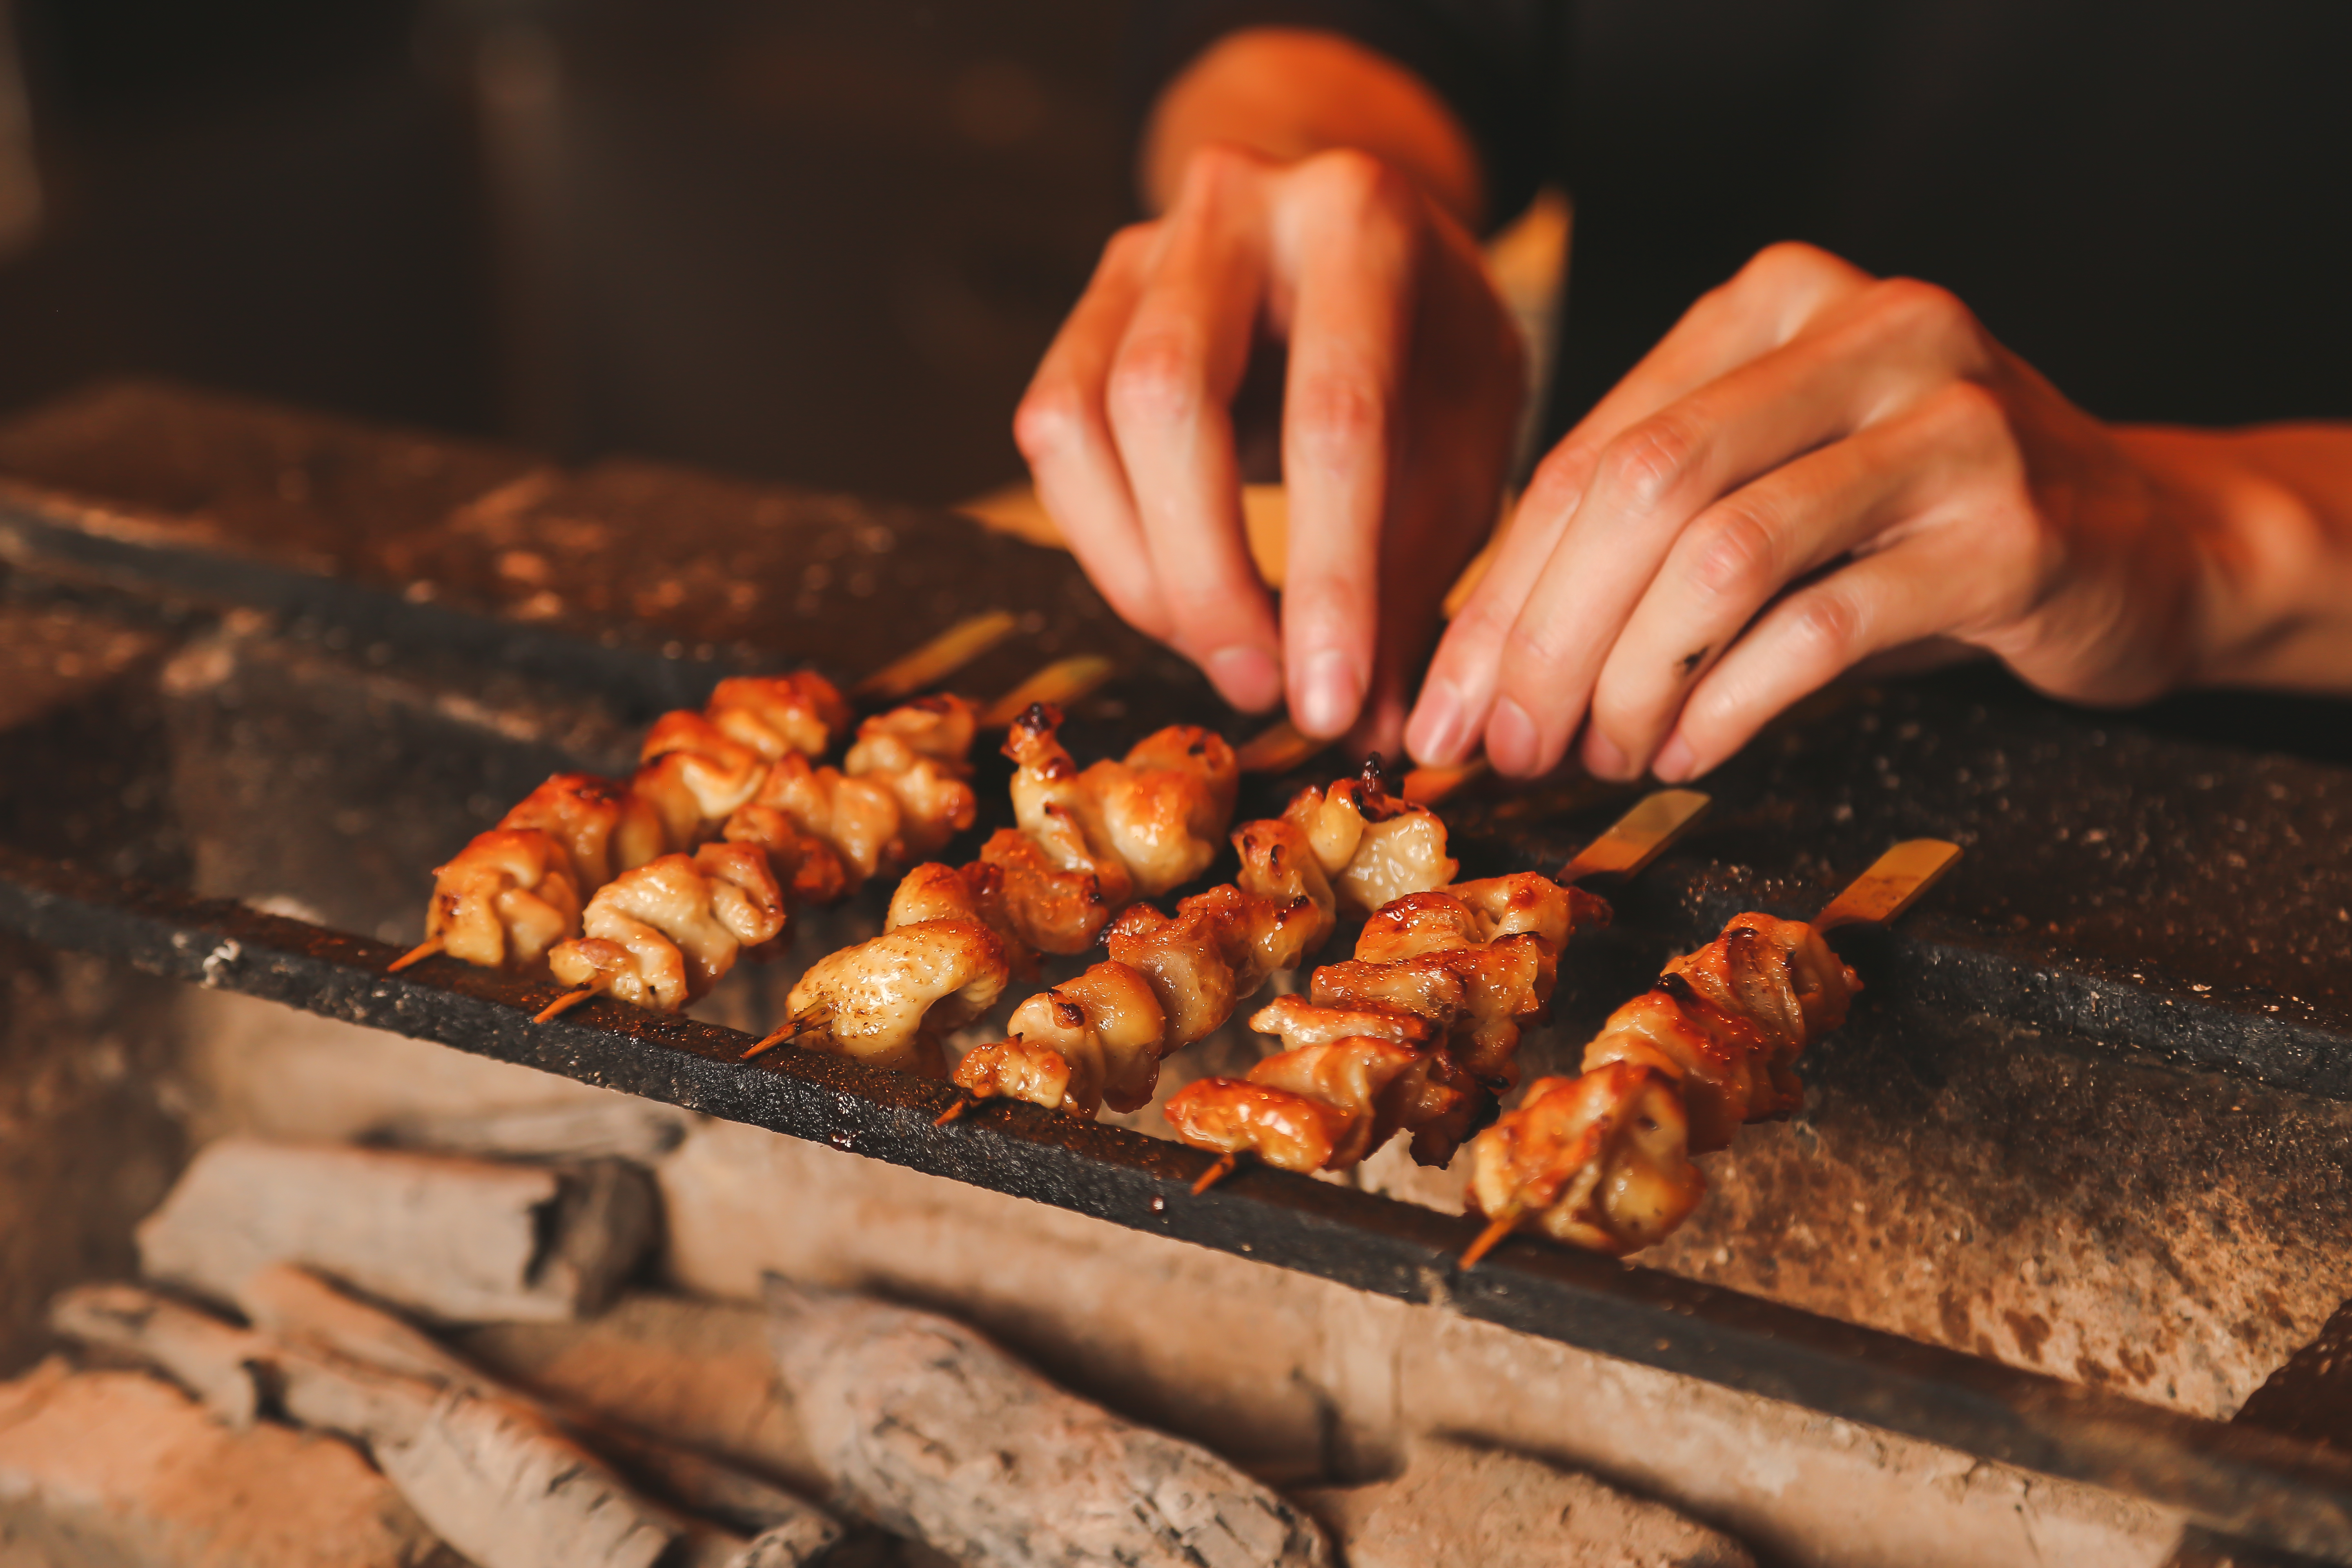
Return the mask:
[[[2190,679],[2352,691],[2352,425],[2119,435],[2201,536]]]

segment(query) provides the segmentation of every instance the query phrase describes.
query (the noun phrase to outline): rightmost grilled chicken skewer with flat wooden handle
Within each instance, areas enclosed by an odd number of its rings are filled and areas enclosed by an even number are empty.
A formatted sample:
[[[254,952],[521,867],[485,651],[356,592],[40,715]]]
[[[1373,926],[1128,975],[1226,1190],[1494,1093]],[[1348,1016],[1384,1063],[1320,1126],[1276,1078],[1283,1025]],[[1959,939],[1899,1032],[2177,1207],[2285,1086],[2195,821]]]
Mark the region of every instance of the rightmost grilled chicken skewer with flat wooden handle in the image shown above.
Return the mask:
[[[1611,1255],[1668,1237],[1708,1190],[1691,1157],[1795,1110],[1797,1056],[1846,1020],[1860,978],[1820,933],[1893,919],[1957,858],[1940,839],[1898,844],[1818,919],[1736,914],[1668,964],[1609,1016],[1581,1077],[1538,1079],[1477,1135],[1470,1204],[1489,1225],[1463,1267],[1522,1227]]]

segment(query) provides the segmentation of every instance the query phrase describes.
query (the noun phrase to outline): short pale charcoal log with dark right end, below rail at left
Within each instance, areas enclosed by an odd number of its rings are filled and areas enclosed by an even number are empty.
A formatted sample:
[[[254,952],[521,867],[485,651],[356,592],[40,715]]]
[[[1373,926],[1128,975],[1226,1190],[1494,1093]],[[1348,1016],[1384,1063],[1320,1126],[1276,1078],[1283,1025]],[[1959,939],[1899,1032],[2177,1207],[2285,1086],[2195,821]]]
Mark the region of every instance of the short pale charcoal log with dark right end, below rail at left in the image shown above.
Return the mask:
[[[139,1225],[139,1260],[219,1300],[268,1262],[301,1262],[428,1319],[548,1321],[595,1312],[654,1222],[649,1178],[621,1161],[221,1138]]]

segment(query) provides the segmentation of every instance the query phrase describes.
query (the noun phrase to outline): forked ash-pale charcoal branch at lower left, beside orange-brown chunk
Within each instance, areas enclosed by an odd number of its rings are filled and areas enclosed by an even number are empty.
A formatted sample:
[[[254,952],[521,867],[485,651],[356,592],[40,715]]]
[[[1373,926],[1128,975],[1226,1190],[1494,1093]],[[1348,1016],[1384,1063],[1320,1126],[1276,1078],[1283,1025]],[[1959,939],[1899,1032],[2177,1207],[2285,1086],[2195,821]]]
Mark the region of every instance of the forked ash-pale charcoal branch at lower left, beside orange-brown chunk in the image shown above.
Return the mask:
[[[54,1324],[214,1387],[223,1352],[240,1352],[252,1399],[362,1443],[480,1568],[807,1568],[842,1540],[823,1509],[703,1455],[572,1422],[301,1269],[263,1269],[238,1295],[263,1328],[207,1335],[205,1314],[129,1286],[73,1291]],[[637,1495],[600,1453],[703,1519]]]

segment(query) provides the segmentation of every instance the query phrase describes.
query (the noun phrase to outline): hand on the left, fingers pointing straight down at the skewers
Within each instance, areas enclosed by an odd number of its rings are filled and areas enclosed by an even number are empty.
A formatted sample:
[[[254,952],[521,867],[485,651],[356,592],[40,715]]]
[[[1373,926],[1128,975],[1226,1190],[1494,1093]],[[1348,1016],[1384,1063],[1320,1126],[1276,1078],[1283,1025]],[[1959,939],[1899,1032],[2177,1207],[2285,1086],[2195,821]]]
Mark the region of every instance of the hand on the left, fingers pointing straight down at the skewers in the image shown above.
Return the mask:
[[[1287,346],[1282,618],[1242,529],[1232,397]],[[1087,576],[1235,708],[1397,750],[1404,682],[1491,531],[1519,334],[1463,226],[1357,150],[1204,146],[1117,233],[1014,437]]]

